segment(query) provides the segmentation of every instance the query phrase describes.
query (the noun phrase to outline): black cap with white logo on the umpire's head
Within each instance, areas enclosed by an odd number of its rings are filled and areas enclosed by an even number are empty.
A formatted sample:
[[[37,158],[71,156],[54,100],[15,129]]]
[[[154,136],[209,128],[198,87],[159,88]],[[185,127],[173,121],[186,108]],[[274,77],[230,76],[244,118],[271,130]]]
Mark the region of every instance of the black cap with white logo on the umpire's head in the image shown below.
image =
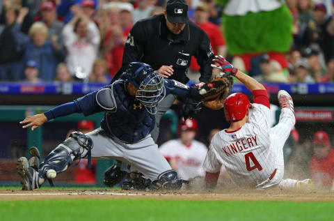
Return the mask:
[[[187,24],[188,4],[184,0],[169,0],[166,6],[167,19],[170,23]]]

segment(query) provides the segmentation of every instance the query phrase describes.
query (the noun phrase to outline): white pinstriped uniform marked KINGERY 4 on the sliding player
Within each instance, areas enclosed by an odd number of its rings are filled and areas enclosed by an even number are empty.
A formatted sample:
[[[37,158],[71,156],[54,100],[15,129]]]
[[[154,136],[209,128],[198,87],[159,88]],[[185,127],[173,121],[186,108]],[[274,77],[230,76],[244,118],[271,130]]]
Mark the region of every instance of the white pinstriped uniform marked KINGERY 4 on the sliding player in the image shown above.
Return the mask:
[[[270,128],[269,100],[264,102],[262,96],[262,102],[267,105],[253,103],[248,123],[239,130],[222,130],[214,135],[203,165],[207,172],[218,172],[225,165],[239,186],[263,188],[281,181],[283,145],[294,125],[294,114],[285,108],[280,116],[282,122]]]

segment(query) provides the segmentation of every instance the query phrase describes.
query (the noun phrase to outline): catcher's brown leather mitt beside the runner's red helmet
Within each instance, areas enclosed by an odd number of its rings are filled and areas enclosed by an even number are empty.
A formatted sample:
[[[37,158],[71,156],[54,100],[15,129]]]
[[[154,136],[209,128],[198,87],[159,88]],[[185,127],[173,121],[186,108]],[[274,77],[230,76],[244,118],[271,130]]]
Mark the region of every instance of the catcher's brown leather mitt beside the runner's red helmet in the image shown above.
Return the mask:
[[[216,84],[216,82],[219,82],[220,86],[215,90],[206,93],[205,98],[202,99],[203,105],[209,109],[223,108],[224,101],[230,95],[233,86],[233,77],[226,76],[224,73],[219,73],[212,79],[212,82],[207,83],[207,86]]]

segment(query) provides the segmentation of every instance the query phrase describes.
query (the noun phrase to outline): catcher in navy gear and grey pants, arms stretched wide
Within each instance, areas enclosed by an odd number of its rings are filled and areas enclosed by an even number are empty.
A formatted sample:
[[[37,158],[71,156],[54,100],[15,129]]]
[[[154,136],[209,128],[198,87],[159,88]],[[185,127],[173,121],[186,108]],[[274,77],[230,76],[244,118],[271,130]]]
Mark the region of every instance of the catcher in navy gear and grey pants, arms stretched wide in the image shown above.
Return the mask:
[[[33,190],[64,172],[74,160],[88,157],[122,160],[138,169],[151,190],[178,190],[184,181],[171,169],[150,135],[154,127],[157,105],[168,94],[202,100],[218,93],[225,83],[210,82],[202,86],[186,86],[173,79],[163,79],[146,63],[130,63],[122,77],[113,84],[88,93],[73,102],[59,105],[43,114],[28,116],[23,128],[38,128],[43,123],[72,113],[85,116],[104,112],[101,127],[83,134],[72,132],[70,138],[47,155],[39,165],[39,153],[32,148],[31,158],[17,160],[23,190]]]

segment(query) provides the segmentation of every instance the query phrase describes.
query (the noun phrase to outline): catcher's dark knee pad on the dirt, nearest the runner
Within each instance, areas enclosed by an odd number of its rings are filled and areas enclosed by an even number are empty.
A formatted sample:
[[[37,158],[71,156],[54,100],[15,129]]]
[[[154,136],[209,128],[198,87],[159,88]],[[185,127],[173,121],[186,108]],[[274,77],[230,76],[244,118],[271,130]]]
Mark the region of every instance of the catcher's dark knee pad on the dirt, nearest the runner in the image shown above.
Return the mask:
[[[177,176],[174,169],[167,170],[160,174],[156,181],[152,182],[154,190],[180,190],[183,183],[188,183]]]

